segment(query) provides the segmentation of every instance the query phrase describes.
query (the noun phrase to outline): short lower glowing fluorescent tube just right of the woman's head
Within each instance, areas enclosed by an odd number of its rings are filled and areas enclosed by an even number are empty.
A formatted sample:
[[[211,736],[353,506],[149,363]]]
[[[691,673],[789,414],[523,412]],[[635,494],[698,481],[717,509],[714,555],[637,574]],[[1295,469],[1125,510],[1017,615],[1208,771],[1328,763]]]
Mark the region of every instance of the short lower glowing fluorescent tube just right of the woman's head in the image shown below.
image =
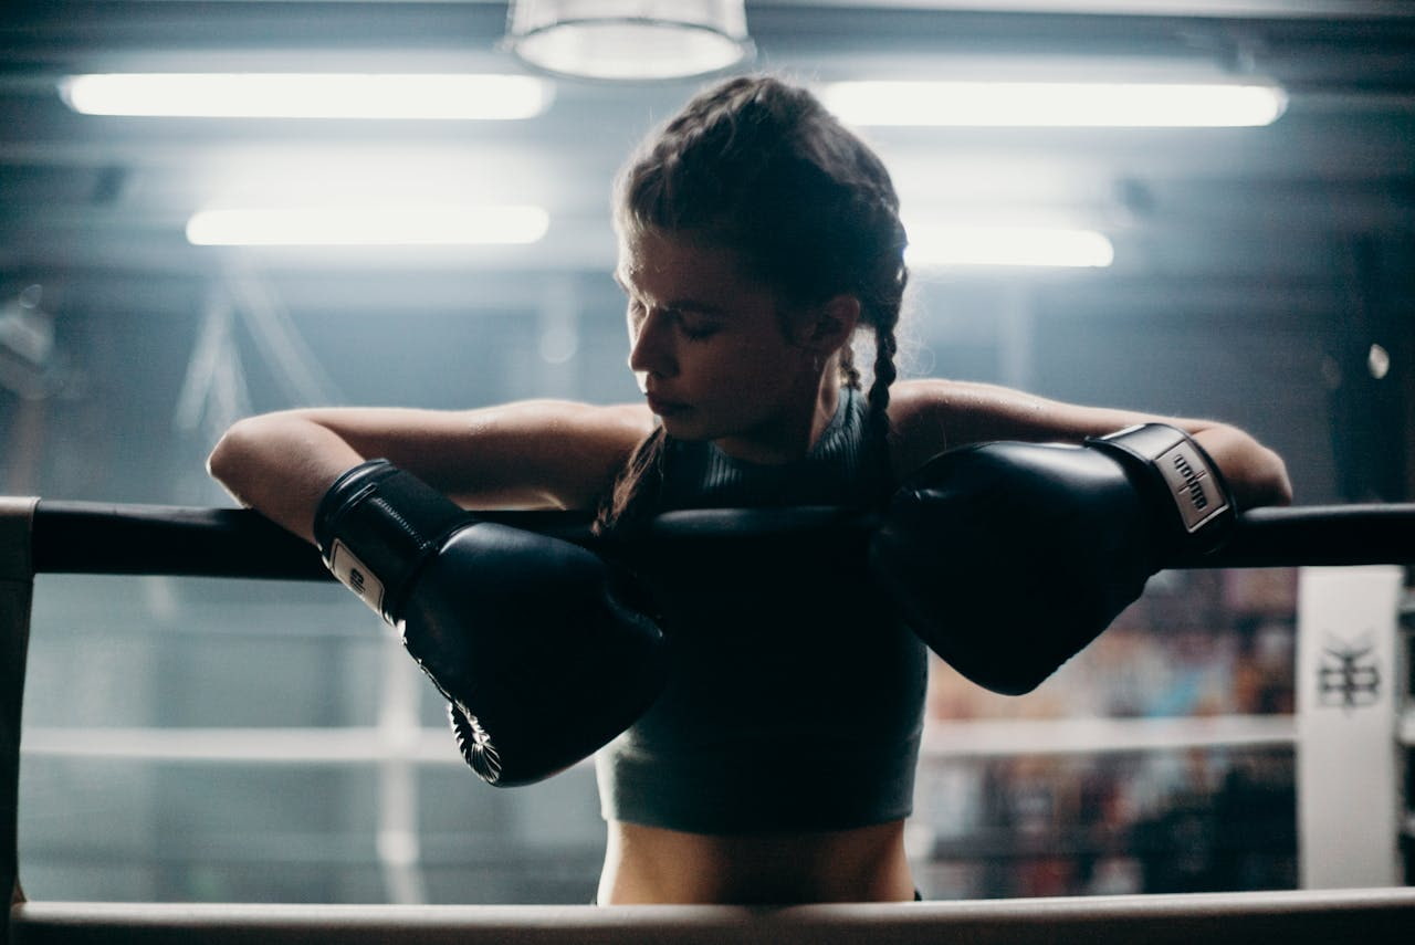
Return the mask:
[[[1090,229],[1029,226],[910,226],[906,262],[942,266],[1067,266],[1104,269],[1115,248]]]

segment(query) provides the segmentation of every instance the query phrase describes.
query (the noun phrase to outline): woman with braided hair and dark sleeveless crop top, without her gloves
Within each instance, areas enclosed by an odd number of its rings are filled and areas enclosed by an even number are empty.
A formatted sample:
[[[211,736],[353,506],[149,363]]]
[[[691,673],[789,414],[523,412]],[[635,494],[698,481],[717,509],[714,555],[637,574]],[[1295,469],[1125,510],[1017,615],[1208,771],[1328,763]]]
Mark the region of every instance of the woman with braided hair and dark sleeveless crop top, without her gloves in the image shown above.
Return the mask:
[[[672,508],[874,505],[945,448],[1160,420],[978,383],[893,383],[907,270],[889,174],[777,79],[730,79],[689,102],[623,173],[616,224],[645,403],[291,410],[236,423],[212,474],[307,539],[331,482],[371,457],[467,508],[597,509],[614,535]],[[860,331],[874,351],[867,392],[850,347]],[[1289,499],[1282,461],[1248,434],[1162,420],[1207,450],[1240,506]],[[802,560],[768,549],[669,587],[675,676],[597,755],[600,903],[914,898],[903,825],[923,647],[880,617],[859,562]]]

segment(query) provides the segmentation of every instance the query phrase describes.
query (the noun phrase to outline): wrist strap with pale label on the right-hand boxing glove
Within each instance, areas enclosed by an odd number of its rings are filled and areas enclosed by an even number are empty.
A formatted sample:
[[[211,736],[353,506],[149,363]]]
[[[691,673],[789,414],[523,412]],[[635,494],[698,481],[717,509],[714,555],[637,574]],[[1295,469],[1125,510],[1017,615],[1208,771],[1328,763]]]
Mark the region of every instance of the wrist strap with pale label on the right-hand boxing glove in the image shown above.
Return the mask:
[[[1204,447],[1183,430],[1142,423],[1085,443],[1116,457],[1156,497],[1162,528],[1180,547],[1210,552],[1228,536],[1237,516],[1228,487]]]

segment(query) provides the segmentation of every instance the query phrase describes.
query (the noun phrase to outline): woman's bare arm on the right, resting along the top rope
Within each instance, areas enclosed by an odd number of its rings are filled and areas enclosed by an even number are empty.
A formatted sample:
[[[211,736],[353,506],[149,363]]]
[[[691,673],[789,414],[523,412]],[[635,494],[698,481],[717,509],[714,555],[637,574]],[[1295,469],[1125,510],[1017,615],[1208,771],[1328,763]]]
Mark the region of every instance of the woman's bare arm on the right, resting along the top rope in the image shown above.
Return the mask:
[[[1282,458],[1242,430],[1213,420],[1085,407],[986,383],[907,381],[894,386],[893,458],[901,475],[934,454],[988,440],[1078,443],[1135,423],[1169,423],[1194,437],[1223,470],[1240,508],[1286,505],[1292,484]]]

